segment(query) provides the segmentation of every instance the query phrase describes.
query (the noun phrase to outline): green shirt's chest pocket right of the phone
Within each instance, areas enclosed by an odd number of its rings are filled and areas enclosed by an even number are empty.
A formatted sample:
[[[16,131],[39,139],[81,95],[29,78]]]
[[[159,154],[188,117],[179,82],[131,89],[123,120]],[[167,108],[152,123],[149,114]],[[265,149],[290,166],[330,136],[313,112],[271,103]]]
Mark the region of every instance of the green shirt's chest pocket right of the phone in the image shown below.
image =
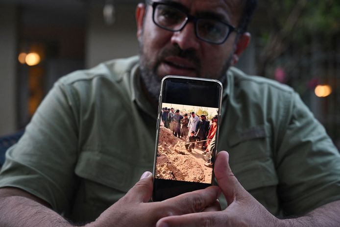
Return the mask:
[[[270,126],[260,125],[229,136],[230,167],[247,191],[278,184],[270,135]]]

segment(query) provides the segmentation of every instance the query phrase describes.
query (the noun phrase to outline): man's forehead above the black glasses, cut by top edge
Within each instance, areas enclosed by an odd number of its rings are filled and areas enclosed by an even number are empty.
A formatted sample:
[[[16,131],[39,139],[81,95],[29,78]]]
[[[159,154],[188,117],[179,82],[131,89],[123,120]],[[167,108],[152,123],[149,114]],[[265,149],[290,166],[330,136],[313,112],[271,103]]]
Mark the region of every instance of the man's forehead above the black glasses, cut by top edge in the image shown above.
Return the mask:
[[[225,22],[237,25],[242,15],[243,0],[156,0],[158,2],[180,4],[188,9],[191,15],[199,16],[205,13],[217,14]]]

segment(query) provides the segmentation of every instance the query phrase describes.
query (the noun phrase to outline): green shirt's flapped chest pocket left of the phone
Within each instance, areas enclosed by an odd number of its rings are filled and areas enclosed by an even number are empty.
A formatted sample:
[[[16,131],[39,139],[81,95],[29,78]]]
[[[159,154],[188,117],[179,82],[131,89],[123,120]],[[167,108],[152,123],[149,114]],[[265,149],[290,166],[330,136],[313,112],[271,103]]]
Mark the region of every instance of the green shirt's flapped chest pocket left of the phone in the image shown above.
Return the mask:
[[[80,153],[75,167],[80,181],[76,200],[109,206],[125,195],[146,167],[124,162],[118,156],[96,151]]]

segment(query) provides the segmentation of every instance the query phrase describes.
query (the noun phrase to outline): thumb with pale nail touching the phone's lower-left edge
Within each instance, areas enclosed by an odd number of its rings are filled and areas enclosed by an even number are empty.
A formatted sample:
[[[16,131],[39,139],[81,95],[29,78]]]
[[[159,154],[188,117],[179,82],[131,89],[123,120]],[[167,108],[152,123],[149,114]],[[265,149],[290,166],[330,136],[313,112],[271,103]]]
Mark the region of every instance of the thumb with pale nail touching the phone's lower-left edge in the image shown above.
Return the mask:
[[[134,202],[148,202],[152,195],[152,187],[152,173],[146,171],[125,197]]]

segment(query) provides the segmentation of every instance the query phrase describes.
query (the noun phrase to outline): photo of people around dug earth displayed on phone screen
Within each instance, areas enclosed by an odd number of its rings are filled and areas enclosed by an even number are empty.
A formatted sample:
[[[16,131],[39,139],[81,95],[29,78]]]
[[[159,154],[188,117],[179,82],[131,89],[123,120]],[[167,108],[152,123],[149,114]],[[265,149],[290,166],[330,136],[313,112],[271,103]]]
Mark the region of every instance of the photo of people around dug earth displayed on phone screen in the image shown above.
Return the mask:
[[[218,108],[162,103],[160,116],[155,177],[212,183]]]

